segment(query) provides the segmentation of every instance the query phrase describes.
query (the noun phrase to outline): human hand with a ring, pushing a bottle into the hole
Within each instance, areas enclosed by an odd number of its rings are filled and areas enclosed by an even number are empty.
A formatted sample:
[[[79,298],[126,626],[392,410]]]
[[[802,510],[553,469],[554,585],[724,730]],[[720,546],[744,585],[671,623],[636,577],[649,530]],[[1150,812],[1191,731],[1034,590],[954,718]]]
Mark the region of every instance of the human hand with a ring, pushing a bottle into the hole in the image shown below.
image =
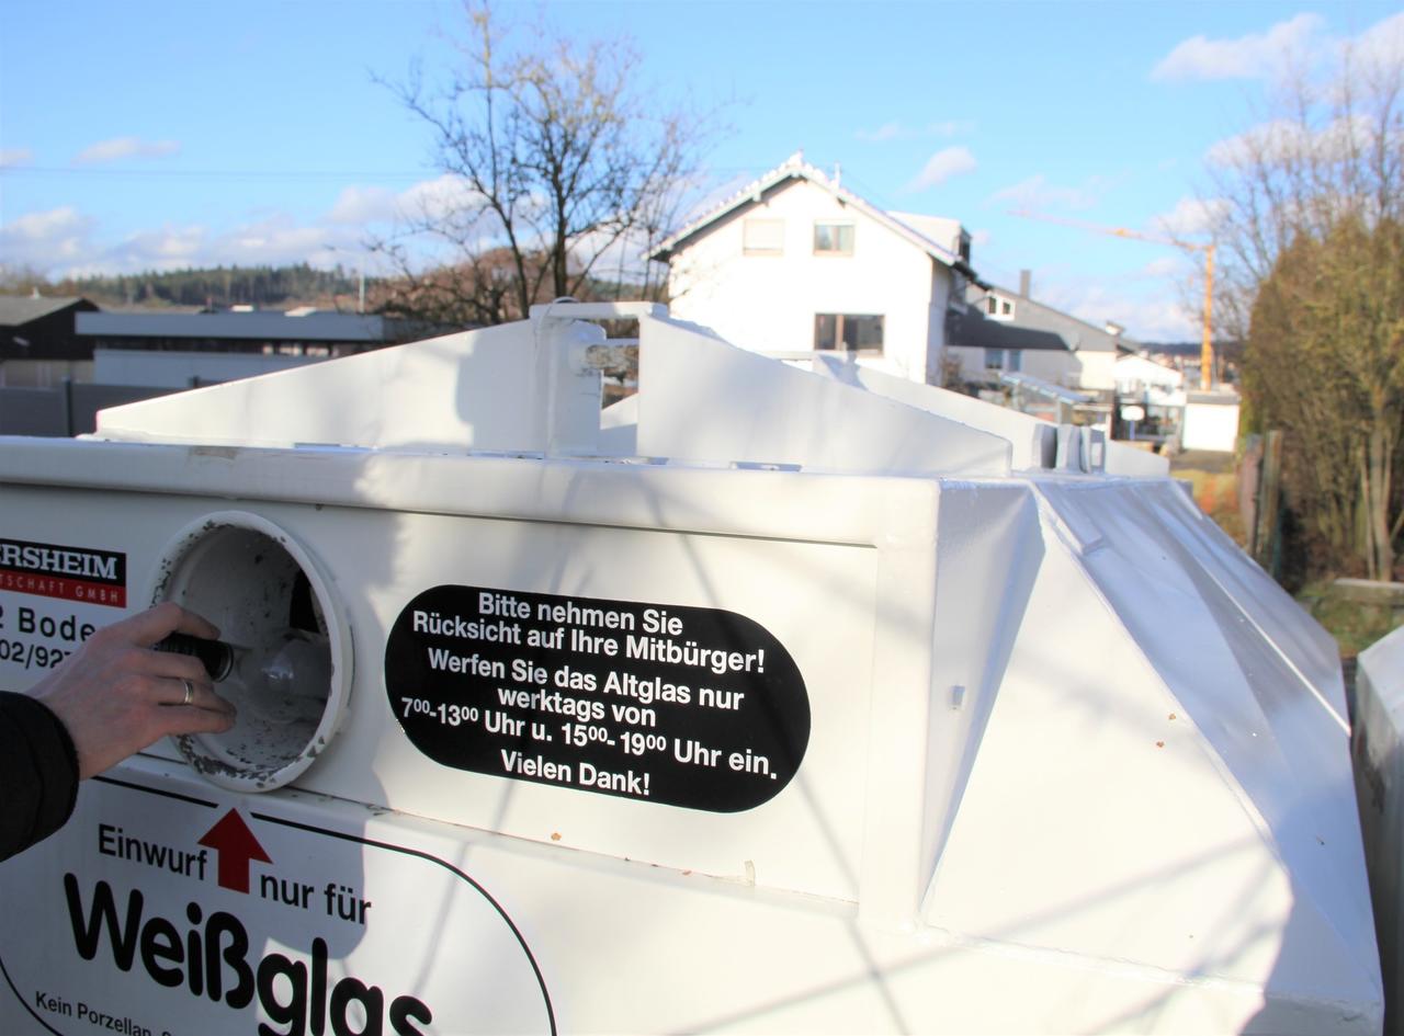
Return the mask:
[[[209,622],[167,601],[97,630],[31,691],[67,727],[80,778],[170,734],[222,733],[234,724],[234,706],[215,693],[198,658],[152,650],[177,632],[219,636]]]

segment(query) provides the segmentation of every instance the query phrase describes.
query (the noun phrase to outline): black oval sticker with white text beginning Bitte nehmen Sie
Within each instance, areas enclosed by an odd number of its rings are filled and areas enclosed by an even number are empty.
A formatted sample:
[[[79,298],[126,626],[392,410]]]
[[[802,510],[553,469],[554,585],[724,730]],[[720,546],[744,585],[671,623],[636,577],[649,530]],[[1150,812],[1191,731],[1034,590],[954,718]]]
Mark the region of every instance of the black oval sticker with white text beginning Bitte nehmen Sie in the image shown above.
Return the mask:
[[[410,741],[475,773],[737,813],[809,744],[795,660],[715,608],[434,587],[385,646]]]

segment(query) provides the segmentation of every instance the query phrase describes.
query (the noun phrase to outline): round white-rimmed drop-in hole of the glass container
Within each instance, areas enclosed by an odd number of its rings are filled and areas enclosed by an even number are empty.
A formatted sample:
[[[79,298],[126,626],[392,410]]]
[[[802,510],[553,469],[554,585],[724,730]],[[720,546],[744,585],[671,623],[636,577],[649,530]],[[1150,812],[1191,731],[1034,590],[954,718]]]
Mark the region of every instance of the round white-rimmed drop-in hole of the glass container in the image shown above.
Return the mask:
[[[223,788],[271,790],[336,734],[350,688],[350,637],[305,550],[264,518],[222,512],[188,526],[161,557],[152,602],[219,626],[233,664],[215,689],[239,719],[223,734],[177,737],[191,766]]]

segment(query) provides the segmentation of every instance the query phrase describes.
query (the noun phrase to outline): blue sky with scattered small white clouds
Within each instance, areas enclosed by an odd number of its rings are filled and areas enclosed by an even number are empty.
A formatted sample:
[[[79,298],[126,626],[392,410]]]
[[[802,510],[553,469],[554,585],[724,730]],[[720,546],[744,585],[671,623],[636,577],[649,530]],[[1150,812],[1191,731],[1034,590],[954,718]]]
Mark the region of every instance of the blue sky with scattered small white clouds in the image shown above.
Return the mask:
[[[1198,340],[1186,240],[1216,147],[1272,115],[1283,56],[1404,55],[1398,3],[498,3],[632,41],[637,87],[717,111],[713,194],[803,150],[886,209],[959,219],[981,278],[1143,341]],[[452,60],[452,0],[7,0],[0,265],[58,278],[368,268],[434,190],[432,135],[383,81]],[[1039,213],[1052,219],[1035,219]],[[1056,222],[1061,220],[1061,222]]]

